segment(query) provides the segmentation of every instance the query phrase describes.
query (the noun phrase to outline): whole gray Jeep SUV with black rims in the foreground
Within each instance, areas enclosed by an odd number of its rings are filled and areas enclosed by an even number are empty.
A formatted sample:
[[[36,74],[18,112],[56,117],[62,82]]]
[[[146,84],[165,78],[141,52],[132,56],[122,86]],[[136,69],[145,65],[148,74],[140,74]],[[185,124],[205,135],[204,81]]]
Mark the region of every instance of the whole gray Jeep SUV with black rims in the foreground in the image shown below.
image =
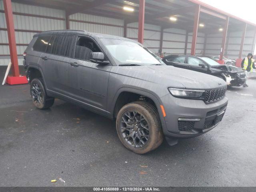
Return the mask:
[[[82,30],[34,35],[24,52],[37,108],[54,98],[116,120],[122,144],[144,154],[214,128],[228,99],[224,80],[167,66],[142,44]]]

